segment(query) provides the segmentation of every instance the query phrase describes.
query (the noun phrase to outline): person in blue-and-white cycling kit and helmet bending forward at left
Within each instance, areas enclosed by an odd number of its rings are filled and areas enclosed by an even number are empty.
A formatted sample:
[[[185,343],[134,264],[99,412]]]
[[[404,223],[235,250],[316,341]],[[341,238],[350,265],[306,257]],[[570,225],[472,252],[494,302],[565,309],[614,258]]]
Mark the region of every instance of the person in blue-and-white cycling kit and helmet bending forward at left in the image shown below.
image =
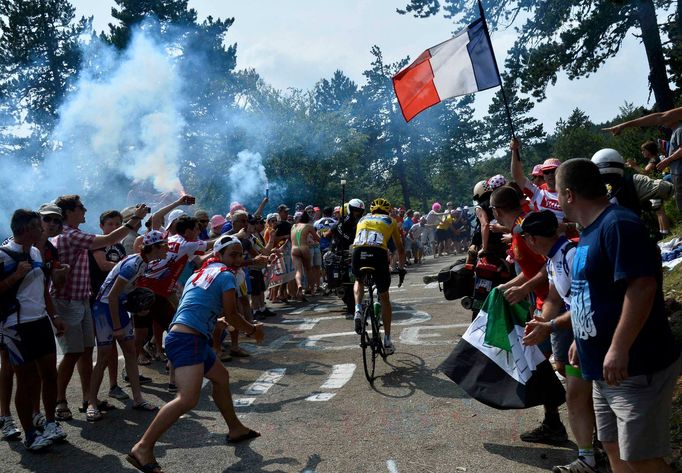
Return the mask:
[[[102,384],[104,368],[108,359],[116,353],[114,346],[121,345],[128,373],[130,386],[133,391],[133,409],[141,411],[156,411],[157,407],[142,398],[140,378],[135,351],[135,334],[126,302],[128,295],[135,287],[135,280],[144,273],[151,261],[164,259],[168,252],[168,241],[158,230],[152,230],[144,236],[144,246],[139,254],[134,254],[120,261],[109,272],[102,283],[93,306],[93,319],[97,337],[97,364],[92,372],[90,397],[86,419],[95,422],[102,419],[97,394]],[[142,289],[138,289],[142,291]],[[150,290],[148,292],[151,293]],[[149,308],[145,309],[149,312]],[[147,314],[138,312],[135,317],[146,317]],[[111,393],[110,393],[111,395]],[[127,399],[127,397],[126,397]]]

